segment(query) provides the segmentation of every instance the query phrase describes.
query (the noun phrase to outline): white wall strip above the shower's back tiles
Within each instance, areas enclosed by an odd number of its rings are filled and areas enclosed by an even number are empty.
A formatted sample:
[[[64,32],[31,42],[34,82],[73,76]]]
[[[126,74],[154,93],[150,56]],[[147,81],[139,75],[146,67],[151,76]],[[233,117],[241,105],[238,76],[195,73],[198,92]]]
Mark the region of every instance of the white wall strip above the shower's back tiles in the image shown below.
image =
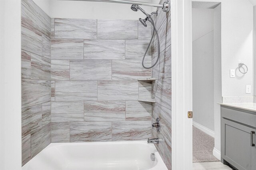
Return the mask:
[[[159,4],[160,0],[139,0]],[[142,12],[133,12],[130,4],[109,2],[86,2],[74,0],[34,0],[51,18],[84,18],[84,19],[120,19],[138,20],[144,18]],[[149,6],[141,6],[146,12],[156,10]]]

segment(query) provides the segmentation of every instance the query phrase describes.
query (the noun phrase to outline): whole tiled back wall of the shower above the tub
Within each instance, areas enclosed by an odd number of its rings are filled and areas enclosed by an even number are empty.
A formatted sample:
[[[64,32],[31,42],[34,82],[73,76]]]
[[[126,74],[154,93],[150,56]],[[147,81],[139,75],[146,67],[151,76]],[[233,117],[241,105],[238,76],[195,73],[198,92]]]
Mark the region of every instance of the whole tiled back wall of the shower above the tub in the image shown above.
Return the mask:
[[[142,57],[151,28],[138,20],[52,19],[52,142],[146,140],[152,86]],[[151,65],[151,50],[146,65]]]

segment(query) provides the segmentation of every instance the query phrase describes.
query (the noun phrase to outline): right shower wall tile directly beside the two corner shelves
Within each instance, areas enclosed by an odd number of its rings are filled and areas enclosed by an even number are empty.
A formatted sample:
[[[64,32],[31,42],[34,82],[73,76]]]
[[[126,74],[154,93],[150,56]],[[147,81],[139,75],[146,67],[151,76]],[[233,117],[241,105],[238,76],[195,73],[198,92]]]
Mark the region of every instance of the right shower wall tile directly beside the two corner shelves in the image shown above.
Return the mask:
[[[153,84],[152,98],[168,109],[172,109],[172,78],[156,80]]]

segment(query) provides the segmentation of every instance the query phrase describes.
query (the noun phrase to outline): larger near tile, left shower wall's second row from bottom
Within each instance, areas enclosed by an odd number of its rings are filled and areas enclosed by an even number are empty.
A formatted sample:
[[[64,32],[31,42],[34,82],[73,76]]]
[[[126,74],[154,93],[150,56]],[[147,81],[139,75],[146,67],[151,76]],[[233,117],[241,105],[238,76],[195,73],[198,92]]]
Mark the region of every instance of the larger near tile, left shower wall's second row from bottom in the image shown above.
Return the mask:
[[[34,133],[42,127],[42,104],[22,108],[22,136]]]

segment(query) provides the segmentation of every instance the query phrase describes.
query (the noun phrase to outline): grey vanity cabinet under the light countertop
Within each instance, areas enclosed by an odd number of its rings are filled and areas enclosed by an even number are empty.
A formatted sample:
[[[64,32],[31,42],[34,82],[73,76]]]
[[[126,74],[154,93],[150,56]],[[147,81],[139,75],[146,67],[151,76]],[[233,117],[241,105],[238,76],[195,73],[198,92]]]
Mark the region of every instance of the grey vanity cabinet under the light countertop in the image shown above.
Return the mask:
[[[221,106],[221,161],[256,170],[256,112]]]

